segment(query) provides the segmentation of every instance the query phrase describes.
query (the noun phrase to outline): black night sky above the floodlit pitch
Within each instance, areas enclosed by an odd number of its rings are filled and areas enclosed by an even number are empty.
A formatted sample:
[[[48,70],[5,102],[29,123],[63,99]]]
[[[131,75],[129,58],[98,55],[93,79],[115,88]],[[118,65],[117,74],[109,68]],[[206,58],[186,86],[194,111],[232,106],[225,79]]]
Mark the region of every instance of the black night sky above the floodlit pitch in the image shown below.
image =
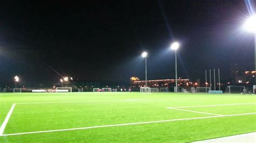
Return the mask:
[[[253,69],[253,35],[240,28],[248,16],[242,0],[8,1],[0,6],[0,84],[15,75],[144,80],[143,51],[149,79],[174,78],[174,40],[181,45],[178,76],[195,80],[220,68],[228,77],[233,62]]]

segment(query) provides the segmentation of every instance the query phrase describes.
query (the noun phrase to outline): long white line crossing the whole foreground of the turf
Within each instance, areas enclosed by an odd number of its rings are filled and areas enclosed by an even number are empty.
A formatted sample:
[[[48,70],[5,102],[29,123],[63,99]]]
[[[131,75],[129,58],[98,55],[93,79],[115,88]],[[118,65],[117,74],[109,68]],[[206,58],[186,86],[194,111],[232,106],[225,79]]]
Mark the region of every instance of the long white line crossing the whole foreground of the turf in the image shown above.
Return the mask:
[[[253,113],[234,114],[234,115],[223,115],[223,116],[209,116],[209,117],[197,117],[197,118],[183,118],[183,119],[171,119],[171,120],[157,120],[157,121],[145,121],[145,122],[139,122],[139,123],[127,123],[127,124],[117,124],[117,125],[104,125],[104,126],[68,128],[68,129],[49,130],[49,131],[36,131],[36,132],[25,132],[25,133],[11,133],[11,134],[2,134],[2,135],[0,135],[0,137],[1,137],[1,136],[9,136],[9,135],[23,135],[23,134],[35,134],[35,133],[61,132],[61,131],[73,131],[73,130],[86,130],[86,129],[90,129],[90,128],[102,128],[102,127],[114,127],[114,126],[127,126],[127,125],[163,123],[163,122],[179,121],[179,120],[196,120],[196,119],[232,117],[232,116],[243,116],[243,115],[256,115],[256,112],[253,112]]]

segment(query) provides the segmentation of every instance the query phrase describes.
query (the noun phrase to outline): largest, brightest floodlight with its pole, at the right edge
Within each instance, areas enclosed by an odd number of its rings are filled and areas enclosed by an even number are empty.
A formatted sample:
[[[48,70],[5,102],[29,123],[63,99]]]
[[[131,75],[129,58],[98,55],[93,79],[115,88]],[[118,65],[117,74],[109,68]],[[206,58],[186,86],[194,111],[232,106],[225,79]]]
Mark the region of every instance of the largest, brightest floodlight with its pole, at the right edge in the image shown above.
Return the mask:
[[[256,14],[246,20],[243,28],[254,34],[254,71],[256,71]],[[256,84],[256,76],[254,76],[254,82]]]

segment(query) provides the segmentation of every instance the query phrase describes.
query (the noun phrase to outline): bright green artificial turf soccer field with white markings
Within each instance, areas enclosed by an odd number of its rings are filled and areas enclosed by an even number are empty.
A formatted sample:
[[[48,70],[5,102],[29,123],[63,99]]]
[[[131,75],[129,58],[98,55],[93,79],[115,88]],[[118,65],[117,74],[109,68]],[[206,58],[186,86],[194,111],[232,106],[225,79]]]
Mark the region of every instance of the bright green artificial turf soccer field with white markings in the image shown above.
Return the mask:
[[[191,142],[256,132],[255,95],[11,93],[0,104],[0,142]]]

